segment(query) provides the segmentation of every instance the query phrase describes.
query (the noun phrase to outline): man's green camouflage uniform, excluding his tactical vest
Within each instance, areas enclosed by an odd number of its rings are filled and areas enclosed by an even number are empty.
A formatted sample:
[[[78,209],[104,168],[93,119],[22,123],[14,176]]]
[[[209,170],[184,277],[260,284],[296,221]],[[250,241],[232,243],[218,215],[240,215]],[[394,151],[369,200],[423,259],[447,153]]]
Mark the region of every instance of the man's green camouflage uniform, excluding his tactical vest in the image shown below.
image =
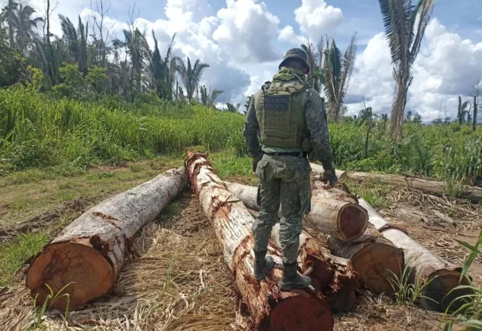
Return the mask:
[[[303,52],[303,50],[295,49],[295,55],[298,51]],[[285,59],[289,57],[290,52],[292,52],[291,55],[293,54],[293,50],[289,50]],[[296,79],[301,79],[303,83],[305,82],[305,75],[300,70],[283,68],[282,62],[280,71],[274,76],[271,84],[276,82],[276,77],[287,73],[296,76]],[[260,124],[258,123],[259,116],[257,117],[256,114],[256,100],[269,89],[269,82],[266,82],[262,86],[262,91],[256,93],[251,99],[243,133],[249,153],[253,159],[259,160],[256,174],[260,179],[258,186],[260,213],[252,227],[255,241],[254,251],[258,260],[265,258],[271,228],[278,221],[278,210],[281,205],[280,245],[283,252],[283,265],[292,265],[296,263],[298,256],[303,215],[309,213],[311,207],[311,167],[306,154],[310,154],[310,160],[314,160],[314,158],[321,160],[326,170],[334,169],[333,155],[325,102],[317,91],[306,85],[303,87],[305,90],[303,91],[305,93],[303,99],[305,123],[303,125],[305,125],[308,138],[303,141],[303,148],[260,145],[258,138]],[[305,143],[308,145],[307,148],[304,147]],[[294,155],[279,155],[280,153]]]

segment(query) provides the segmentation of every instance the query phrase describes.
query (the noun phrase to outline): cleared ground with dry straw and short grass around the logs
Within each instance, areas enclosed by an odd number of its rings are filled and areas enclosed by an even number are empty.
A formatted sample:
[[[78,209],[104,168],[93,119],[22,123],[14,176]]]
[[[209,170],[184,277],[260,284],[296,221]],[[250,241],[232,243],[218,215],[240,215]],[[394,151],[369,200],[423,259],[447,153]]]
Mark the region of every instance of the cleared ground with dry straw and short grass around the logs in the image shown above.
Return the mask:
[[[223,180],[256,185],[245,173],[249,159],[229,152],[211,155]],[[0,325],[24,330],[35,321],[33,300],[24,286],[24,262],[82,211],[119,191],[150,180],[183,163],[160,158],[126,167],[97,167],[71,176],[51,178],[48,171],[13,173],[0,178]],[[246,167],[248,166],[248,167]],[[384,218],[447,261],[463,265],[467,250],[454,238],[474,244],[482,210],[434,198],[406,188],[346,181]],[[456,226],[440,214],[449,216]],[[322,234],[310,234],[326,245]],[[127,260],[111,295],[84,310],[70,312],[77,330],[251,330],[249,313],[240,301],[222,249],[199,202],[190,191],[164,209],[155,223],[134,240],[141,258]],[[471,276],[482,283],[479,257]],[[334,314],[334,330],[437,330],[441,314],[395,303],[387,296],[358,292],[356,308]],[[46,312],[48,330],[61,328],[62,312]]]

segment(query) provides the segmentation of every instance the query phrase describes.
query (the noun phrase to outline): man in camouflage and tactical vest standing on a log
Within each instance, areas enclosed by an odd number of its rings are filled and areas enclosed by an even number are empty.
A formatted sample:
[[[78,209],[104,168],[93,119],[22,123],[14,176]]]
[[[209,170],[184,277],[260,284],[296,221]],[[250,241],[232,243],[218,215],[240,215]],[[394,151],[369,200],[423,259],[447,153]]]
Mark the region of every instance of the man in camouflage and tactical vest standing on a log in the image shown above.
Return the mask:
[[[280,244],[283,252],[283,290],[310,285],[310,278],[296,272],[303,216],[311,208],[310,162],[320,160],[330,186],[338,178],[326,119],[325,102],[307,86],[310,72],[304,50],[288,50],[271,84],[265,82],[249,104],[244,138],[259,177],[259,216],[251,228],[254,236],[255,269],[258,281],[274,265],[267,256],[271,228],[278,221],[281,205]],[[259,133],[259,140],[258,140]]]

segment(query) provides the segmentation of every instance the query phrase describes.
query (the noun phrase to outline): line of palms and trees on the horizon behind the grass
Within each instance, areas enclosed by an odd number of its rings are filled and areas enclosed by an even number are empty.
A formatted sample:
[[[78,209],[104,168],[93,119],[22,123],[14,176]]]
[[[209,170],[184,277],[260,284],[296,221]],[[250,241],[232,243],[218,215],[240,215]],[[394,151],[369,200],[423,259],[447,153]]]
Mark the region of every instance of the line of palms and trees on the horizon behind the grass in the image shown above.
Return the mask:
[[[208,91],[199,86],[209,64],[199,59],[186,61],[172,55],[175,35],[164,53],[150,31],[154,46],[148,44],[147,31],[135,27],[135,6],[129,12],[128,29],[121,39],[112,35],[114,26],[107,24],[109,0],[96,0],[87,21],[80,16],[77,22],[58,15],[62,36],[51,33],[50,0],[46,0],[44,16],[15,0],[8,0],[0,16],[0,86],[10,86],[21,79],[28,79],[28,66],[39,68],[44,74],[42,91],[77,99],[96,95],[116,95],[127,102],[134,102],[140,95],[150,93],[176,102],[197,102],[215,107],[216,99],[223,91]],[[425,28],[434,9],[434,0],[379,0],[384,21],[386,39],[393,62],[395,91],[389,133],[393,140],[402,138],[402,127],[407,119],[421,122],[420,115],[405,112],[409,87],[413,82],[412,66],[415,62]],[[139,11],[137,12],[139,17]],[[418,18],[418,20],[417,20]],[[343,103],[350,85],[357,55],[356,32],[344,53],[334,39],[319,39],[316,46],[310,41],[302,44],[308,55],[310,73],[307,83],[316,91],[323,90],[330,121],[340,122],[348,108]],[[178,81],[178,77],[180,78]],[[472,122],[475,129],[478,97],[473,102],[459,100],[457,122]],[[249,106],[251,96],[244,105]],[[227,110],[238,112],[240,104],[227,104]],[[468,107],[468,108],[467,108]],[[472,115],[470,110],[472,109]],[[366,107],[359,117],[366,118]],[[372,113],[373,115],[373,113]],[[465,120],[467,118],[467,121]],[[435,121],[443,122],[441,119]]]

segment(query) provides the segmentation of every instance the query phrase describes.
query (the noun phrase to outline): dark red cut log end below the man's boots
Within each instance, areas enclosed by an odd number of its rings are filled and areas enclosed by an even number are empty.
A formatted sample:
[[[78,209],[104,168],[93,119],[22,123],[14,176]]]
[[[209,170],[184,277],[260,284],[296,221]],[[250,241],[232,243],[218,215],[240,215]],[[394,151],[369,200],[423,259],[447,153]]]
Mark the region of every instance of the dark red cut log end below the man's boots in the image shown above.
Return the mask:
[[[280,301],[269,315],[269,330],[333,330],[328,305],[312,297],[292,296]]]

